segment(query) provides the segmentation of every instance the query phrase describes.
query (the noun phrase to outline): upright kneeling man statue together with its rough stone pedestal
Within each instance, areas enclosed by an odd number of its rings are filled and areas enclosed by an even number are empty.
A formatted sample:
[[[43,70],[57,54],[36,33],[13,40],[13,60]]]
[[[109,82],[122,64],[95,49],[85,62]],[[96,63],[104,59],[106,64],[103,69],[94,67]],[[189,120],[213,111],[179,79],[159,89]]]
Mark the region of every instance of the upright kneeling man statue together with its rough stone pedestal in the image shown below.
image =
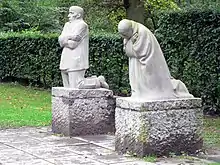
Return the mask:
[[[79,6],[59,36],[64,87],[52,88],[52,131],[66,136],[114,132],[115,99],[103,76],[85,78],[89,68],[89,30]]]

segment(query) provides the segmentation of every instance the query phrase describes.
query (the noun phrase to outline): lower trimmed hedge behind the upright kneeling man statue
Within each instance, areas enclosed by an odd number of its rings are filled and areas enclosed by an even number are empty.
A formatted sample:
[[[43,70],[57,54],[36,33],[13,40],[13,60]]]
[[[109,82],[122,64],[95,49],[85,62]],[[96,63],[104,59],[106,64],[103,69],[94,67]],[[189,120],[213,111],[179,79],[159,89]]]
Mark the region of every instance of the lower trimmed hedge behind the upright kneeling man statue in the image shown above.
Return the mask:
[[[61,51],[56,34],[2,34],[0,78],[16,77],[44,87],[59,86]],[[123,54],[122,40],[114,35],[92,35],[89,51],[87,76],[103,75],[116,94],[128,94],[128,59]]]

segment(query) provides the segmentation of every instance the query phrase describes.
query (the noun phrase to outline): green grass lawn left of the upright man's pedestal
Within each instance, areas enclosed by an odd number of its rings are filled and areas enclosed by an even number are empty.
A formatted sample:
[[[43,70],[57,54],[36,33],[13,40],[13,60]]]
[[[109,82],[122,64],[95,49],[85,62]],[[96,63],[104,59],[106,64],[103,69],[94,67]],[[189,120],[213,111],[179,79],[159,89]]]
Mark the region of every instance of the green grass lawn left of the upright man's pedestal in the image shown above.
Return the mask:
[[[0,128],[51,124],[49,91],[0,84]]]

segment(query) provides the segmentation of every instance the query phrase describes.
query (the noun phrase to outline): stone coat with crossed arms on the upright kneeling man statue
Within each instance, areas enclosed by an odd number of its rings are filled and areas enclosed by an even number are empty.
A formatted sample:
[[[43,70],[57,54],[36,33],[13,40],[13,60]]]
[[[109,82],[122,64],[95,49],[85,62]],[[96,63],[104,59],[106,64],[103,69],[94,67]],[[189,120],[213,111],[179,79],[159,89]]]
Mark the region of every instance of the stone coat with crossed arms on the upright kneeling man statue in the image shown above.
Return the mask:
[[[89,68],[89,31],[83,20],[67,22],[59,36],[63,48],[60,70],[79,71]]]

